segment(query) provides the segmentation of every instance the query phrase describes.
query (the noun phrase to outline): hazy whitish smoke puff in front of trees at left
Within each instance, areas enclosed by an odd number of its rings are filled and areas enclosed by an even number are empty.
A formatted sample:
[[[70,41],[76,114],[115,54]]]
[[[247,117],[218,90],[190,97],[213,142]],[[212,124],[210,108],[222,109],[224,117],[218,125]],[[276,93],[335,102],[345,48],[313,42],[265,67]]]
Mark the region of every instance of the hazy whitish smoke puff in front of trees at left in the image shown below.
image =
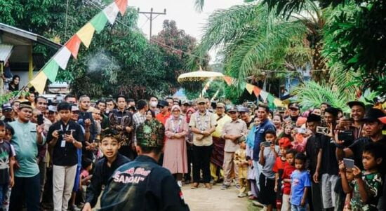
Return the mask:
[[[114,57],[109,56],[105,50],[88,55],[87,72],[90,76],[104,77],[109,83],[117,83],[117,74],[121,67]]]

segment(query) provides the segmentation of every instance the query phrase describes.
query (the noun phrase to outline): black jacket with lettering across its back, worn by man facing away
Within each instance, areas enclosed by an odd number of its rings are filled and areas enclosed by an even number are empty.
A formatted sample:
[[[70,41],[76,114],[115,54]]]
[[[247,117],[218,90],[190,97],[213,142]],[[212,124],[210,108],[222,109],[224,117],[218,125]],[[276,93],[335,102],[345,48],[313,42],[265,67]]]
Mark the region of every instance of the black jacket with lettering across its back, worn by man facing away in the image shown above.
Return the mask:
[[[149,156],[122,165],[109,179],[100,210],[189,210],[173,175]]]

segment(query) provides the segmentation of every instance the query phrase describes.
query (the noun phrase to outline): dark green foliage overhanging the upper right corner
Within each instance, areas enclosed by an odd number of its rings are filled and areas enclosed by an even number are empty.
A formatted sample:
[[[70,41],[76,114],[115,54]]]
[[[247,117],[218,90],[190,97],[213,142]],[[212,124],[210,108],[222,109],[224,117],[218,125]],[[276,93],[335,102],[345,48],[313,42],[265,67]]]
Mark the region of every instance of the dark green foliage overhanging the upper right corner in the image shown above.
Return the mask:
[[[271,9],[288,17],[301,11],[303,0],[265,0]],[[324,54],[340,62],[344,71],[359,72],[357,86],[385,94],[386,80],[386,1],[319,0],[322,8],[331,6],[335,13],[326,26]],[[331,8],[328,8],[331,10]]]

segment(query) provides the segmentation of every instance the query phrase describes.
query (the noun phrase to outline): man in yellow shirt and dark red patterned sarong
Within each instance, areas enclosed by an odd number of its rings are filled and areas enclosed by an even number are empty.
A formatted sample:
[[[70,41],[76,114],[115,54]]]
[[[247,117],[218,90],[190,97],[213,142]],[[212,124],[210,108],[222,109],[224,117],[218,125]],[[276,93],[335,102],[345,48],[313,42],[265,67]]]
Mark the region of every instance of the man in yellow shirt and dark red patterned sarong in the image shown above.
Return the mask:
[[[215,120],[217,125],[215,126],[215,132],[213,132],[213,151],[211,156],[211,176],[213,177],[213,184],[223,177],[222,165],[224,164],[224,147],[225,139],[221,137],[222,127],[225,123],[232,119],[225,114],[225,104],[218,102],[215,108]],[[220,168],[220,171],[218,171]]]

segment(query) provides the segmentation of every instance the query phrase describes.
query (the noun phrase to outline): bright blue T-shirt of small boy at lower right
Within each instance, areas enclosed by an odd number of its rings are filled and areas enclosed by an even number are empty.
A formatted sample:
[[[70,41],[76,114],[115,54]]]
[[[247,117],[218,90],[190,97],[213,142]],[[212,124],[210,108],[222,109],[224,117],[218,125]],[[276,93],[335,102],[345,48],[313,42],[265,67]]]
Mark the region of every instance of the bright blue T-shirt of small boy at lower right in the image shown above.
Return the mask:
[[[299,206],[303,193],[305,191],[305,187],[310,187],[310,173],[306,170],[300,172],[299,170],[295,170],[291,174],[291,204]]]

